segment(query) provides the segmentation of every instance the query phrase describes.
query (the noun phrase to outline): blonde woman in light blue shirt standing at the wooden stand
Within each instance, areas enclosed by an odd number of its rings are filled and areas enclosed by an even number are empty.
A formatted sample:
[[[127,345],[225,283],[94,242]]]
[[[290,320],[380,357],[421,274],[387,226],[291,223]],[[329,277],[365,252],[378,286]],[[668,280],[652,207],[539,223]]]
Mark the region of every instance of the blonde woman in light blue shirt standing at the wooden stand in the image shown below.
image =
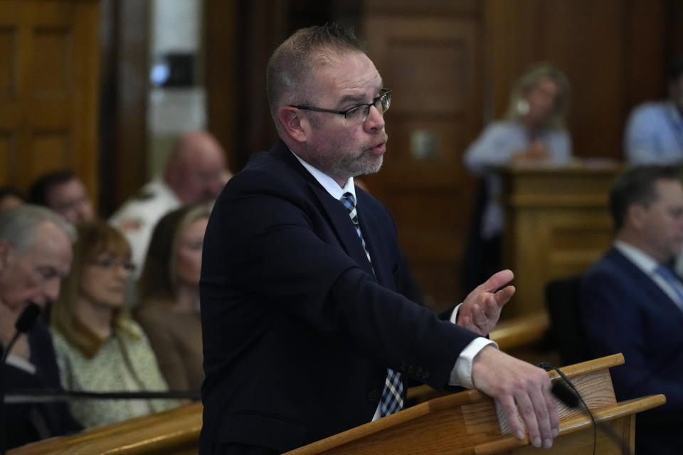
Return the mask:
[[[560,70],[549,63],[531,66],[512,88],[506,118],[489,124],[465,150],[465,166],[483,181],[472,215],[462,289],[474,289],[500,269],[504,214],[497,167],[571,161],[565,125],[569,97],[569,82]]]

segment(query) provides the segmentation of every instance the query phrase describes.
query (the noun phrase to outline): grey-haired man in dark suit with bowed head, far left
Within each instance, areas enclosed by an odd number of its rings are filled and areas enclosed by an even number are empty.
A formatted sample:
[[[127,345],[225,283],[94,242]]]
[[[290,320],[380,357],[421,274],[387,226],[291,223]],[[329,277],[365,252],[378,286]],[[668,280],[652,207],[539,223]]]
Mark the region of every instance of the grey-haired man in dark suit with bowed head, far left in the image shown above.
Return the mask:
[[[43,309],[71,267],[71,225],[57,213],[24,204],[0,214],[0,354],[22,311]],[[4,365],[6,390],[60,387],[52,338],[40,321],[19,336]],[[4,405],[6,448],[81,429],[64,402]]]

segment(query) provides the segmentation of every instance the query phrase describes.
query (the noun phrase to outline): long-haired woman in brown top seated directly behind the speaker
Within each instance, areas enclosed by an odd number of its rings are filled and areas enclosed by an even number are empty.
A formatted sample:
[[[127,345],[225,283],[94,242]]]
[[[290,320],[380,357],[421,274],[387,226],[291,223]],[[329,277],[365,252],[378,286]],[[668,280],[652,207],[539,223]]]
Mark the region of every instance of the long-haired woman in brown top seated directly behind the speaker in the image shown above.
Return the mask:
[[[154,228],[134,316],[149,336],[171,390],[200,390],[204,379],[199,276],[206,206],[164,215]]]

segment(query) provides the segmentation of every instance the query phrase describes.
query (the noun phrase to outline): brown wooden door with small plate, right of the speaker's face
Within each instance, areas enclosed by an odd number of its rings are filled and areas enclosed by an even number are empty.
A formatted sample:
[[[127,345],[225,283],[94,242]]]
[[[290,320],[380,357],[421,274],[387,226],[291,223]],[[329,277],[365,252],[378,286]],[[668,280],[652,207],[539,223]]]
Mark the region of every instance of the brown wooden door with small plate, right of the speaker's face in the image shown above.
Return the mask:
[[[480,19],[472,11],[411,16],[368,8],[369,55],[394,95],[384,166],[364,180],[395,216],[430,305],[442,309],[461,294],[474,186],[461,155],[480,127]],[[432,146],[420,155],[423,140]]]

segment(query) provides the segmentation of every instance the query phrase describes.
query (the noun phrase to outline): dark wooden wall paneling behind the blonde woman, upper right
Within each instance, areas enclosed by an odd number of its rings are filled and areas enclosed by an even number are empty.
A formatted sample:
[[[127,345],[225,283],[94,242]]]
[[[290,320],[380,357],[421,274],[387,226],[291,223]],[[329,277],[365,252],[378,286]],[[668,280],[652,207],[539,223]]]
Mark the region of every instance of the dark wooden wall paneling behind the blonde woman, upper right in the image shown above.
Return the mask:
[[[485,120],[502,117],[517,77],[546,60],[572,86],[575,154],[621,159],[630,108],[662,92],[665,10],[666,0],[487,0]]]

